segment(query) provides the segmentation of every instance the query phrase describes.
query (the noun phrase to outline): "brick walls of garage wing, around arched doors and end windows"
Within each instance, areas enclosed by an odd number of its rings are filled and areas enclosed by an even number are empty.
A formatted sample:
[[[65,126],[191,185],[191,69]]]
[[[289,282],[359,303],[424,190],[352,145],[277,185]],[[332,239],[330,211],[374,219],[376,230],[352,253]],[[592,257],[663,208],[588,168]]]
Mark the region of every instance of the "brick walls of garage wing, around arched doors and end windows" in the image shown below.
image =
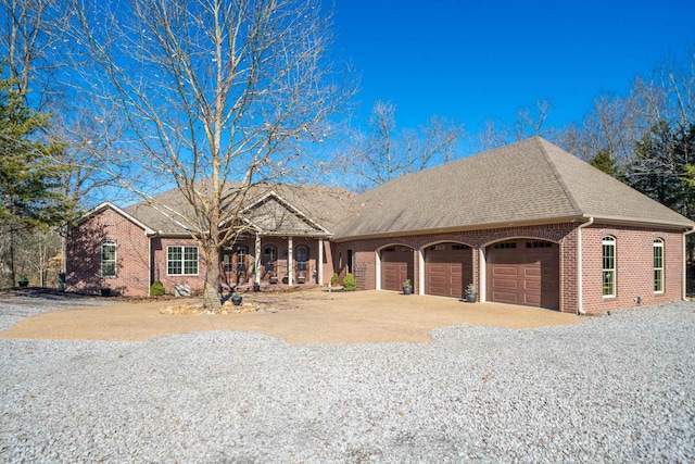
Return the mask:
[[[493,242],[513,238],[535,238],[559,244],[560,311],[574,313],[579,309],[578,294],[578,224],[549,224],[531,227],[509,227],[451,234],[429,234],[397,238],[333,243],[336,268],[341,275],[346,272],[345,256],[353,250],[355,262],[366,267],[366,289],[376,288],[377,256],[375,250],[389,246],[405,246],[414,249],[414,290],[419,291],[418,250],[430,244],[448,241],[468,244],[473,249],[473,283],[481,286],[479,261],[480,250]],[[616,297],[603,297],[603,247],[602,239],[616,237]],[[664,240],[665,291],[654,292],[654,239]],[[682,236],[666,229],[636,227],[611,227],[593,225],[582,230],[582,299],[586,312],[601,312],[635,305],[634,298],[641,297],[642,304],[675,301],[682,298],[683,250]],[[339,267],[337,256],[342,256]],[[481,292],[484,293],[484,292]],[[482,294],[484,297],[484,294]]]

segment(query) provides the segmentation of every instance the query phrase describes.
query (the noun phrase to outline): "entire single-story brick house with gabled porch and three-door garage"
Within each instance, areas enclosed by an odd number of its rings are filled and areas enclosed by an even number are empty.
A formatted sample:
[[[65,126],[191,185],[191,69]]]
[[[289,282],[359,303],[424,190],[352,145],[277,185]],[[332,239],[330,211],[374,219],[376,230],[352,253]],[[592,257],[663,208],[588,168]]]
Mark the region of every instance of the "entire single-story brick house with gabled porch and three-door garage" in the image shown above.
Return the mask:
[[[394,291],[410,279],[415,293],[451,298],[472,284],[480,301],[573,313],[685,294],[685,235],[695,223],[539,137],[356,198],[305,188],[277,186],[250,202],[250,217],[265,220],[251,221],[253,234],[224,254],[223,267],[270,263],[288,285],[300,273],[300,281],[326,284],[351,272],[361,289]],[[288,218],[282,227],[269,211]],[[68,239],[67,284],[77,291],[108,284],[147,294],[153,280],[170,288],[184,278],[199,289],[202,265],[190,235],[147,203],[103,204]]]

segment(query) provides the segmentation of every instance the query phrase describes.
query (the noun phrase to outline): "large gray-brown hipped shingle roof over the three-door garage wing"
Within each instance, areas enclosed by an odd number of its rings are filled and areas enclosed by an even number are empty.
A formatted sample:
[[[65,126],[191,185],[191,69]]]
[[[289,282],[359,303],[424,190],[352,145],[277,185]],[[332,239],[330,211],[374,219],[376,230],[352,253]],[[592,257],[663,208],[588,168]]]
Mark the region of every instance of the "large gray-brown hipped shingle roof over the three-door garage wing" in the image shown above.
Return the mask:
[[[692,221],[559,147],[531,138],[407,174],[356,199],[336,238],[594,217],[690,228]]]

